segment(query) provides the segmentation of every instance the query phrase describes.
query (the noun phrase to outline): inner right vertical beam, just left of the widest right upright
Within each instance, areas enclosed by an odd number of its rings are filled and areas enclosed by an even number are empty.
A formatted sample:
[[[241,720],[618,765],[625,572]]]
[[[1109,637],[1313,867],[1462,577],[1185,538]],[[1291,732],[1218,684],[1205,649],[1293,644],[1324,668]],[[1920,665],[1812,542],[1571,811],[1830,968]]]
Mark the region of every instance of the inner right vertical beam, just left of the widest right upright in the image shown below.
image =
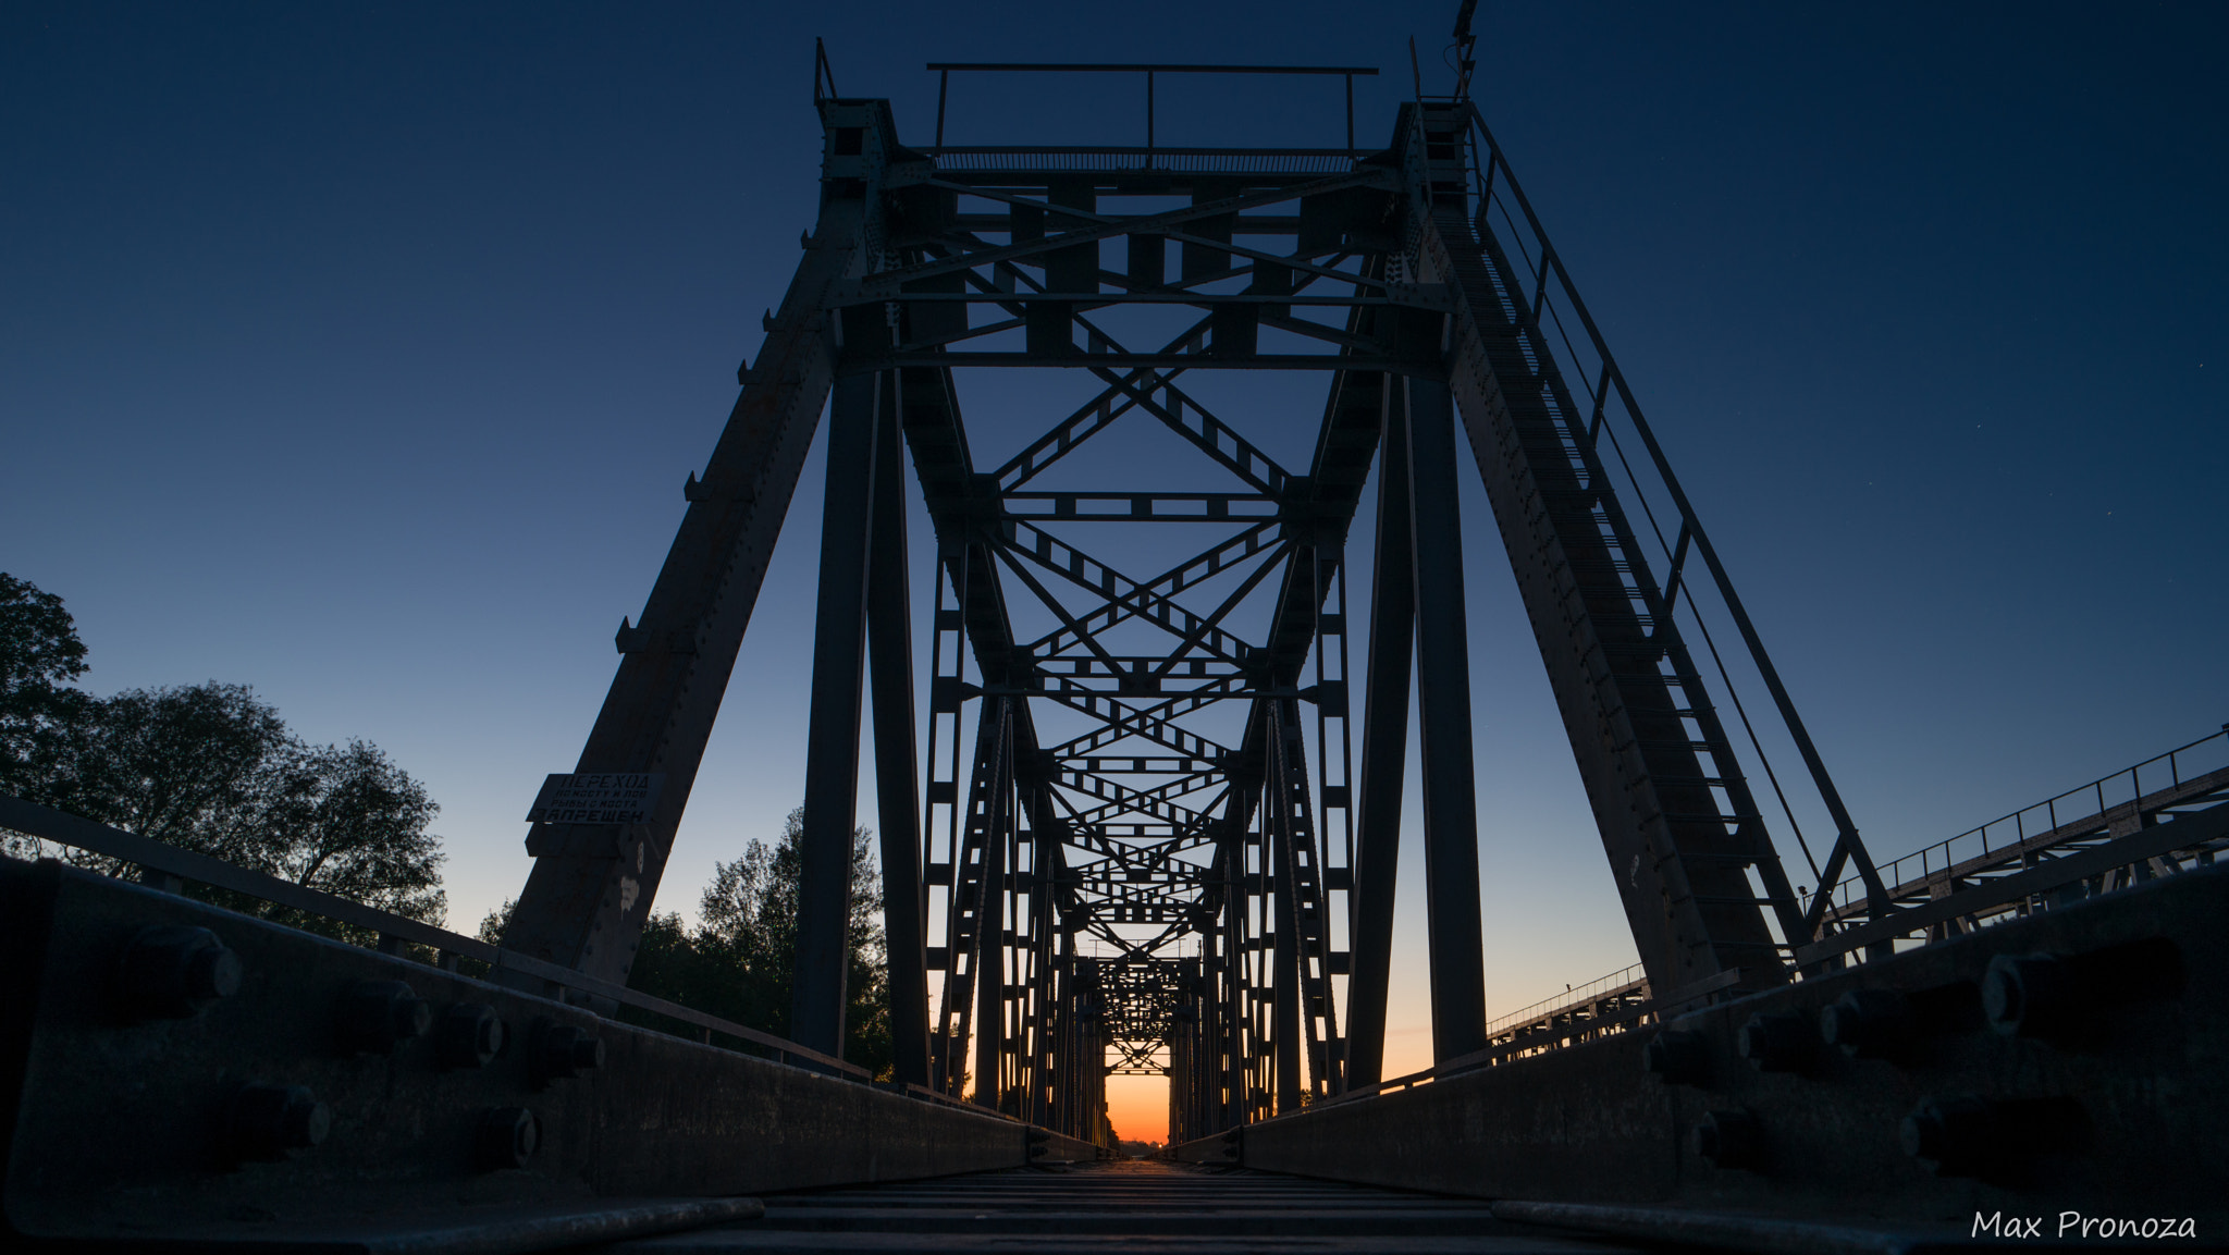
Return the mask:
[[[1386,381],[1391,397],[1393,381]],[[1409,769],[1409,660],[1415,653],[1415,555],[1409,517],[1409,424],[1386,406],[1378,473],[1378,553],[1371,571],[1369,695],[1355,820],[1353,979],[1346,985],[1346,1086],[1384,1081],[1386,983],[1393,972],[1393,885]]]

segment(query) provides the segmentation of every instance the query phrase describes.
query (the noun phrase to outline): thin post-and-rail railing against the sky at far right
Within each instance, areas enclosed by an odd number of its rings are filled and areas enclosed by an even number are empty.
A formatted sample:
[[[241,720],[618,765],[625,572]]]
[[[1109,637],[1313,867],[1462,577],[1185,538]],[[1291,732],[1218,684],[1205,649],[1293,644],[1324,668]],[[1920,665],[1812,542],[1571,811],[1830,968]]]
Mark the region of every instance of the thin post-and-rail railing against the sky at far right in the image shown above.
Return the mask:
[[[2182,796],[2187,785],[2204,789],[2218,782],[2220,787],[2229,787],[2229,780],[2222,778],[2225,771],[2229,771],[2229,724],[2222,724],[2222,731],[2213,736],[2202,736],[2189,745],[2147,758],[2135,767],[2100,776],[2089,785],[2066,789],[1892,863],[1884,863],[1881,881],[1890,887],[1890,894],[1899,894],[1910,885],[1926,883],[1930,876],[1988,860],[1990,854],[2019,854],[2033,838],[2055,834],[2069,825],[2104,823],[2102,816],[2122,807],[2142,807],[2147,798],[2171,805],[2173,798]],[[1846,914],[1868,896],[1866,887],[1855,878],[1841,881],[1830,894],[1828,914]]]

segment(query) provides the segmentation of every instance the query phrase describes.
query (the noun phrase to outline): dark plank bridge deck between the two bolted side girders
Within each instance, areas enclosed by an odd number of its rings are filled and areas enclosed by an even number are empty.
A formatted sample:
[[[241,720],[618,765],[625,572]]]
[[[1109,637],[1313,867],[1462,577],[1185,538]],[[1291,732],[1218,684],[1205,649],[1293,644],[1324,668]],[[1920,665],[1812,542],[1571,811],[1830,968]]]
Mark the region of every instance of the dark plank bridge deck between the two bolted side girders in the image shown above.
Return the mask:
[[[1195,1255],[1228,1251],[1547,1255],[1618,1246],[1496,1219],[1489,1204],[1152,1159],[974,1173],[936,1181],[769,1195],[765,1219],[617,1251],[967,1251]]]

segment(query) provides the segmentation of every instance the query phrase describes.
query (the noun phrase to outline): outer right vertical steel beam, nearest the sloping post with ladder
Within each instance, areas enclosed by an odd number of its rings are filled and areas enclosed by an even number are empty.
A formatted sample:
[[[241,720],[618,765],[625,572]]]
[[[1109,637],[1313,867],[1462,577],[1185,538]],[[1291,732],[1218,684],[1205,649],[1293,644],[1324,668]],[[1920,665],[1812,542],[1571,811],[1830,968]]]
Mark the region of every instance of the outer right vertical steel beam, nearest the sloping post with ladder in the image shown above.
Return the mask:
[[[1478,907],[1478,782],[1462,613],[1456,415],[1447,383],[1409,379],[1409,519],[1415,544],[1418,736],[1424,765],[1424,903],[1433,1061],[1487,1048]]]

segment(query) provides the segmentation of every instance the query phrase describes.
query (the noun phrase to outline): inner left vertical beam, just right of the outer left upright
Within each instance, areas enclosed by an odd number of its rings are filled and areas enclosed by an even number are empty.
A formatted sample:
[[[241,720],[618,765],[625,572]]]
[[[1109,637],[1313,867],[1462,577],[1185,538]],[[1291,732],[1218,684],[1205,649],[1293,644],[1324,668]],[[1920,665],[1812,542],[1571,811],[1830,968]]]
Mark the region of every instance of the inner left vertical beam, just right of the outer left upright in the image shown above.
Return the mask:
[[[883,938],[889,1048],[898,1083],[929,1083],[927,887],[921,883],[921,767],[914,758],[914,620],[907,611],[905,475],[896,379],[876,415],[867,557],[876,818],[883,829]]]

